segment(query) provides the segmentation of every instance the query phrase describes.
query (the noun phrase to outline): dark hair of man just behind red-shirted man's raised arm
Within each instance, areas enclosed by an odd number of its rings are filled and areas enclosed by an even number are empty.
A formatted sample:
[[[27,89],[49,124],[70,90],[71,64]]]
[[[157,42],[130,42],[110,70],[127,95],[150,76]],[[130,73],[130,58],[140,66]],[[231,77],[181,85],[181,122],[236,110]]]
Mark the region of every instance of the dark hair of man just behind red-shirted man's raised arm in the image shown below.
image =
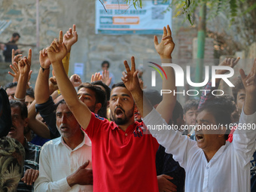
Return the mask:
[[[90,83],[83,83],[79,85],[78,91],[81,90],[81,88],[87,88],[87,89],[93,90],[93,92],[95,93],[96,103],[101,103],[102,106],[106,105],[105,92],[101,88],[96,87]]]

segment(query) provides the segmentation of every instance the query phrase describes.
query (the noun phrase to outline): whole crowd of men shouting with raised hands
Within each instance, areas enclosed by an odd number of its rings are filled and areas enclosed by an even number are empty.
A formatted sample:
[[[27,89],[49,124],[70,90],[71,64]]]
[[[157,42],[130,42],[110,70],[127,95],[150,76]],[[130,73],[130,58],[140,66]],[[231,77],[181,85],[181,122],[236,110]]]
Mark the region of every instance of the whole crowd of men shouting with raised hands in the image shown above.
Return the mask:
[[[240,69],[233,96],[209,91],[182,108],[173,94],[142,90],[133,56],[115,84],[107,61],[90,83],[69,78],[77,41],[74,25],[40,51],[35,90],[32,50],[12,50],[14,82],[0,90],[0,191],[256,191],[256,130],[248,129],[256,124],[256,59],[248,75]],[[172,62],[169,26],[154,46],[162,64]],[[174,69],[162,67],[162,89],[175,90]],[[179,129],[151,129],[157,125]]]

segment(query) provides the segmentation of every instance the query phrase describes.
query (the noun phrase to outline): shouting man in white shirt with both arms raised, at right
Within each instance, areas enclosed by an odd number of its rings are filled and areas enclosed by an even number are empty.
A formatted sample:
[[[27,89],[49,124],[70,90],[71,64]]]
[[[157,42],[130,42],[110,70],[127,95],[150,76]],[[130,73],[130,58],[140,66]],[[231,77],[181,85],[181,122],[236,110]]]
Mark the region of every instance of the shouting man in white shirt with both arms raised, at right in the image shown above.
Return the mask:
[[[167,125],[157,111],[161,111],[161,114],[163,111],[168,112],[169,106],[163,105],[155,110],[145,97],[142,102],[135,66],[132,64],[132,69],[127,63],[125,66],[126,74],[122,80],[132,93],[145,125],[148,129],[151,125]],[[256,131],[248,128],[256,123],[256,59],[251,72],[245,75],[240,69],[240,75],[245,86],[245,104],[239,119],[242,127],[235,131],[232,143],[226,142],[225,126],[230,123],[230,117],[221,105],[205,105],[197,116],[197,123],[201,127],[220,125],[224,129],[197,128],[197,141],[181,136],[175,130],[163,133],[150,130],[152,136],[166,148],[166,152],[173,154],[173,158],[184,167],[186,191],[250,191],[250,160],[255,150]]]

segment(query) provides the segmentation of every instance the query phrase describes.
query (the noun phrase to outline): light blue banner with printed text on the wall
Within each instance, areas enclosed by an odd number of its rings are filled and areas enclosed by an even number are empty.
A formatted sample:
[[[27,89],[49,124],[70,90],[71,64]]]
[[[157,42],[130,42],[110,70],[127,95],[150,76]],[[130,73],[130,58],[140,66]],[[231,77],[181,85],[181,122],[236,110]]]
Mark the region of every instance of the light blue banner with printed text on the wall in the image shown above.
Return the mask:
[[[172,28],[172,10],[166,11],[170,0],[142,1],[142,8],[137,9],[117,0],[102,0],[102,3],[96,0],[96,34],[162,35],[163,26]]]

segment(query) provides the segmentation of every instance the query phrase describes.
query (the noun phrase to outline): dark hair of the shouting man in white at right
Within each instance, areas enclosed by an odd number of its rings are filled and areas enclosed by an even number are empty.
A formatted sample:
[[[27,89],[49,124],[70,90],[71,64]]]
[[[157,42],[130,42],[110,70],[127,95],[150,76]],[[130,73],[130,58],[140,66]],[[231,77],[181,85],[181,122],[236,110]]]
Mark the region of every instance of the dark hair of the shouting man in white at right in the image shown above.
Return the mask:
[[[215,100],[215,99],[214,99]],[[217,125],[227,125],[227,131],[224,135],[224,139],[228,139],[228,135],[230,134],[230,123],[231,123],[231,113],[230,110],[227,110],[227,105],[222,105],[219,101],[206,101],[201,111],[207,111],[215,117],[215,121]]]

